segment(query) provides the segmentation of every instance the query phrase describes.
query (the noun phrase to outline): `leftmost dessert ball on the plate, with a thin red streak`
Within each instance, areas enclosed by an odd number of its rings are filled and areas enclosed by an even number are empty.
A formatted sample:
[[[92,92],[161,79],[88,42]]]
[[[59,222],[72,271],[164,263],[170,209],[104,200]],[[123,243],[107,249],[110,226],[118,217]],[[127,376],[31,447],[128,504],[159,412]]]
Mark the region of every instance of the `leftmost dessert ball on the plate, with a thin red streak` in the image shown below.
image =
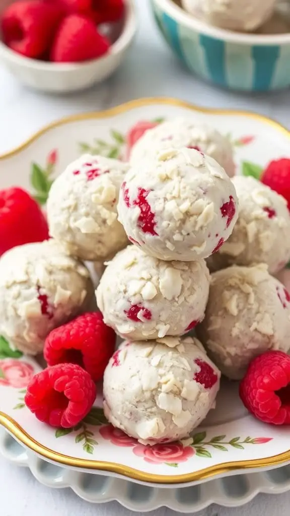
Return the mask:
[[[50,331],[92,300],[89,271],[53,239],[14,247],[0,259],[0,334],[25,353],[40,353]]]

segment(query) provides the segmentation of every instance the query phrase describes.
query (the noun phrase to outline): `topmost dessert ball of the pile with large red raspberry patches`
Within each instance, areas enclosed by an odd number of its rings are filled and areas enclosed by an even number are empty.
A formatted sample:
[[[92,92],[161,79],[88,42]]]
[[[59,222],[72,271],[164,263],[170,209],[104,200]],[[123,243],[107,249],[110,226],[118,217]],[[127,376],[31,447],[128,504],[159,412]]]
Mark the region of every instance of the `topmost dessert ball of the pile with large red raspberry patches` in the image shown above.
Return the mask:
[[[128,238],[160,260],[196,261],[215,252],[237,219],[235,187],[193,148],[160,151],[132,165],[118,203]]]

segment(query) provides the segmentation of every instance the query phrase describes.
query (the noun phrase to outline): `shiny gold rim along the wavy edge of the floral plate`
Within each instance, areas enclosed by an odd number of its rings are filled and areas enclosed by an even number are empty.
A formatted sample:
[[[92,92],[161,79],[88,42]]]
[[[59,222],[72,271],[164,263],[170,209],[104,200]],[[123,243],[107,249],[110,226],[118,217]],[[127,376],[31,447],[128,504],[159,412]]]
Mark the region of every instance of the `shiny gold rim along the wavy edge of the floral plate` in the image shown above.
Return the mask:
[[[112,116],[120,115],[126,111],[131,109],[135,109],[142,106],[149,106],[154,104],[163,104],[163,105],[171,105],[171,106],[179,106],[185,107],[192,111],[198,111],[201,113],[208,113],[213,115],[230,115],[230,116],[243,116],[248,118],[254,118],[256,120],[260,120],[272,127],[275,127],[277,130],[282,132],[285,136],[290,139],[290,131],[283,127],[283,125],[279,124],[275,120],[264,117],[263,115],[259,115],[250,111],[239,111],[239,110],[231,110],[231,109],[212,109],[195,106],[194,104],[190,104],[185,101],[181,101],[178,99],[172,99],[167,97],[153,97],[148,99],[137,99],[130,102],[126,102],[125,104],[121,104],[120,106],[112,107],[111,109],[107,109],[105,111],[96,111],[96,112],[88,112],[78,115],[73,115],[70,117],[62,118],[56,122],[52,122],[49,125],[43,127],[40,131],[31,136],[28,140],[26,140],[22,145],[15,148],[12,151],[7,152],[6,154],[0,155],[0,160],[4,160],[7,158],[11,158],[17,154],[19,154],[24,149],[27,149],[31,143],[38,140],[45,133],[53,130],[55,127],[59,127],[61,125],[66,125],[72,122],[83,121],[83,120],[93,120],[100,118],[109,118]],[[209,477],[213,477],[216,475],[221,475],[223,473],[229,473],[233,470],[245,470],[245,469],[259,469],[261,467],[274,467],[279,464],[286,463],[290,461],[290,449],[284,451],[279,455],[273,455],[271,457],[266,457],[264,459],[253,459],[253,460],[244,460],[237,462],[223,462],[222,464],[217,464],[214,466],[209,466],[204,468],[203,470],[194,472],[194,473],[186,473],[184,475],[152,475],[151,473],[145,473],[139,470],[135,470],[133,467],[124,466],[121,464],[116,464],[115,462],[107,462],[107,461],[98,461],[98,460],[87,460],[87,459],[77,459],[74,457],[69,457],[67,455],[63,455],[58,453],[57,451],[51,450],[46,446],[43,446],[41,443],[36,441],[33,437],[29,436],[29,434],[16,422],[12,419],[12,417],[0,412],[0,424],[3,425],[8,432],[10,432],[17,441],[24,444],[31,450],[33,450],[37,455],[44,457],[45,459],[51,460],[53,462],[63,464],[66,466],[72,467],[80,467],[87,470],[102,470],[109,471],[112,473],[117,473],[119,475],[123,475],[128,478],[133,478],[134,480],[140,480],[143,482],[154,482],[154,483],[185,483],[185,482],[194,482],[197,480],[204,480]]]

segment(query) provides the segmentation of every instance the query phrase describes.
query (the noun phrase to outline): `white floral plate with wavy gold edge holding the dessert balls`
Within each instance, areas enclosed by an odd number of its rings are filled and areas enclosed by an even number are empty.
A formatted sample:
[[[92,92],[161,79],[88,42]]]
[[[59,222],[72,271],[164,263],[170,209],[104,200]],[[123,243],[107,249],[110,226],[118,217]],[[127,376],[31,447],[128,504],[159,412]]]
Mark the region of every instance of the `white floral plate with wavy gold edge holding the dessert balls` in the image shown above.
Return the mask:
[[[56,175],[80,154],[126,158],[144,130],[176,116],[206,122],[228,135],[236,150],[237,173],[258,177],[271,159],[290,155],[290,133],[260,115],[206,110],[173,99],[141,99],[44,128],[20,148],[0,156],[0,188],[22,186],[44,205]],[[190,439],[149,447],[108,425],[101,396],[74,429],[55,430],[37,421],[23,398],[31,375],[40,368],[37,360],[12,351],[0,337],[0,423],[48,461],[162,487],[290,462],[289,429],[250,416],[239,401],[235,382],[222,383],[216,409]]]

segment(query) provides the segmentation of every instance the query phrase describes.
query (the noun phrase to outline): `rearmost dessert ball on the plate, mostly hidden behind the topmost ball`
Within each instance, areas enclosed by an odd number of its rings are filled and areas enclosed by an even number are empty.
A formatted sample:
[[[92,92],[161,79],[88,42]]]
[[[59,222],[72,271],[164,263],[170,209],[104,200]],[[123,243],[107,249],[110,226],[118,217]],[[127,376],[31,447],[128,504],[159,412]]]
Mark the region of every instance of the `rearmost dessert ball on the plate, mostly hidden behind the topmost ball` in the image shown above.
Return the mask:
[[[146,131],[135,143],[130,155],[132,165],[156,157],[160,151],[183,147],[200,150],[214,158],[232,177],[235,173],[233,147],[230,140],[216,129],[191,119],[176,118]]]

